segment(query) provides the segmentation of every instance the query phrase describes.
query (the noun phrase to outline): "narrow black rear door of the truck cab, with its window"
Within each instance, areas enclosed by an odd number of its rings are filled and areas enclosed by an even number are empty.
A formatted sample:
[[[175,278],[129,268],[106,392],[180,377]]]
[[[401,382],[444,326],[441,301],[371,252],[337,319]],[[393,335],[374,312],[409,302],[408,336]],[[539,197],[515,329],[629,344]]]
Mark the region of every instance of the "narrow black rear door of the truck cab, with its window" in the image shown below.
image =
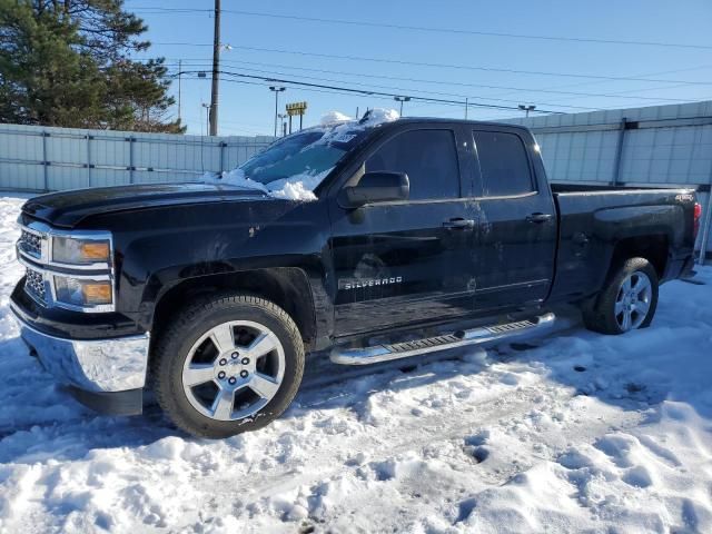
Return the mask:
[[[538,147],[524,134],[500,127],[472,131],[479,208],[475,297],[479,310],[542,303],[552,284],[556,210]]]

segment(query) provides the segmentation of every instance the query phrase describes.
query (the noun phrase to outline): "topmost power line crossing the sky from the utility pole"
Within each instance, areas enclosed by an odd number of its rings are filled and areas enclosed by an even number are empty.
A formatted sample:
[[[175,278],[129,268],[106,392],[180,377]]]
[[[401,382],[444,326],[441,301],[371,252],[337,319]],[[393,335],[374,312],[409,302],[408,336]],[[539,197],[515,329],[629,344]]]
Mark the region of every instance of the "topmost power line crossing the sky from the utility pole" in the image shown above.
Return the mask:
[[[149,14],[166,13],[166,12],[174,12],[174,13],[192,13],[192,12],[209,13],[210,12],[210,10],[208,9],[160,8],[160,7],[137,8],[134,11],[146,12]],[[620,46],[637,46],[637,47],[663,47],[663,48],[712,50],[712,46],[696,44],[696,43],[603,39],[603,38],[592,38],[592,37],[543,36],[543,34],[531,34],[531,33],[510,33],[510,32],[498,32],[498,31],[465,30],[465,29],[457,29],[457,28],[434,28],[434,27],[426,27],[426,26],[394,24],[388,22],[374,22],[374,21],[366,21],[366,20],[327,19],[327,18],[304,17],[304,16],[296,16],[296,14],[265,13],[265,12],[257,12],[257,11],[235,10],[235,9],[225,9],[222,11],[225,13],[239,14],[243,17],[261,17],[261,18],[270,18],[270,19],[298,20],[303,22],[319,22],[319,23],[328,23],[328,24],[356,26],[356,27],[364,27],[364,28],[380,28],[380,29],[387,29],[387,30],[423,31],[423,32],[431,32],[431,33],[496,37],[496,38],[507,38],[507,39],[528,39],[528,40],[540,40],[540,41],[566,41],[566,42],[586,42],[586,43],[595,43],[595,44],[620,44]]]

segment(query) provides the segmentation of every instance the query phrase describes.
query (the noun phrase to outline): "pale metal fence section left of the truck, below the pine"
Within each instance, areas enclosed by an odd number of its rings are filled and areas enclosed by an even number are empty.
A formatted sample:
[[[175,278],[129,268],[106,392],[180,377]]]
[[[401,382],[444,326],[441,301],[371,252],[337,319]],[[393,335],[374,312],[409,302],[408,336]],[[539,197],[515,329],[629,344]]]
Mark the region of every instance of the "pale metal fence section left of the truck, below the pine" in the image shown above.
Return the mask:
[[[271,141],[0,125],[0,189],[186,181],[234,169]]]

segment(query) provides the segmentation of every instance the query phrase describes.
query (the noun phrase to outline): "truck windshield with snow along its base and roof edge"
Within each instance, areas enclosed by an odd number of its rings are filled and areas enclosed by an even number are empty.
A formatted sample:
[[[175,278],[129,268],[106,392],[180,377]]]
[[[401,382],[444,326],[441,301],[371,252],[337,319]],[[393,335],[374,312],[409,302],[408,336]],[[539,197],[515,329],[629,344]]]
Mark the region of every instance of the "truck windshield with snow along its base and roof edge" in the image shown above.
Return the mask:
[[[344,147],[367,128],[398,118],[393,109],[372,109],[358,121],[330,111],[319,126],[277,140],[235,170],[207,172],[202,181],[258,189],[275,198],[316,200],[314,189],[346,154]]]

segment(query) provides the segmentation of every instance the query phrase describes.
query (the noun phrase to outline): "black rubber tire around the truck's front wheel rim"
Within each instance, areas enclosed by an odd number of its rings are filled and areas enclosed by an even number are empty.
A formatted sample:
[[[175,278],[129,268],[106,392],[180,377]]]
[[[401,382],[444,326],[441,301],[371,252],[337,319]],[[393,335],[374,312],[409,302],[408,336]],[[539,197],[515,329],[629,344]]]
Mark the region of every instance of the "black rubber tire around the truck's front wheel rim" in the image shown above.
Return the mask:
[[[284,349],[284,377],[266,406],[241,419],[217,421],[200,413],[184,390],[182,373],[194,345],[211,328],[233,320],[267,327]],[[197,437],[224,438],[261,428],[291,404],[304,374],[304,343],[289,315],[263,298],[226,293],[197,301],[178,312],[157,339],[151,358],[151,382],[158,404],[185,432]]]

